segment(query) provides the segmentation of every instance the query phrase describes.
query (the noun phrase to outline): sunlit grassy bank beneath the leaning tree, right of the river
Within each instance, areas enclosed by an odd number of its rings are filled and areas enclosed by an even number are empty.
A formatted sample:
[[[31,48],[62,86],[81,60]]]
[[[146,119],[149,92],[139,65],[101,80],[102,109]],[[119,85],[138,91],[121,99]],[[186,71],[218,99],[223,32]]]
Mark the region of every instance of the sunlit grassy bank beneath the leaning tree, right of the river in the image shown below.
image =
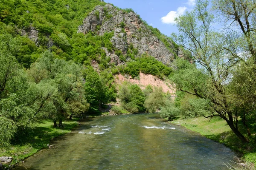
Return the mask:
[[[242,160],[247,162],[247,164],[250,164],[249,166],[253,167],[253,169],[256,169],[255,127],[250,128],[252,133],[252,136],[249,138],[250,142],[248,144],[243,144],[227,123],[219,117],[212,118],[210,122],[209,119],[205,119],[204,117],[196,117],[190,119],[176,119],[172,121],[172,123],[180,124],[187,129],[201,133],[201,135],[206,136],[209,139],[225,144],[227,147],[230,147],[232,150],[243,155]],[[241,132],[246,134],[246,130],[241,130]],[[251,164],[254,164],[254,166],[251,166]]]

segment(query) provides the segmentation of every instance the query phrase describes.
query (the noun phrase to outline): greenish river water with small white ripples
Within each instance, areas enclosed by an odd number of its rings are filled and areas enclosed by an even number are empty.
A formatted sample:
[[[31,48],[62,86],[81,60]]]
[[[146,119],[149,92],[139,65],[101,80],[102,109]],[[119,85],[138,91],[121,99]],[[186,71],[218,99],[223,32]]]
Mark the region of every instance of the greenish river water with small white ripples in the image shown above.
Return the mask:
[[[235,153],[157,114],[84,119],[17,170],[222,170]]]

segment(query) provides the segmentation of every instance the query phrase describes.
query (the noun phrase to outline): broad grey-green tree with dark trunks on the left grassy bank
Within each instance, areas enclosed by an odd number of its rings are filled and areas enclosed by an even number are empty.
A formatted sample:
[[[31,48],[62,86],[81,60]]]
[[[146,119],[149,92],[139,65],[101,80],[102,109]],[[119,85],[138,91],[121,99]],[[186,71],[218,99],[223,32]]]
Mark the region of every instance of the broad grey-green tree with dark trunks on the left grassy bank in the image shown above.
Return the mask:
[[[56,121],[59,121],[61,127],[62,120],[67,116],[72,119],[73,115],[81,116],[88,111],[89,104],[84,96],[81,69],[81,65],[71,60],[66,62],[56,59],[51,52],[45,51],[28,71],[41,89],[37,98],[38,113],[51,118],[54,127],[57,126]]]

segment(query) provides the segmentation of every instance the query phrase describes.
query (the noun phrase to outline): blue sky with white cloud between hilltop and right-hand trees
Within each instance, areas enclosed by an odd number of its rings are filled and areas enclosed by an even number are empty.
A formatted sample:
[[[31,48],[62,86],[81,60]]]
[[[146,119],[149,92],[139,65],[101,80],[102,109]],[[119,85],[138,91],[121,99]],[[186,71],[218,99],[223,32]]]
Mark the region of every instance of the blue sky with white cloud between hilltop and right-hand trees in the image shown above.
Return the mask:
[[[119,8],[132,8],[149,25],[158,28],[163,34],[170,36],[177,32],[173,19],[175,16],[190,11],[195,0],[104,0]]]

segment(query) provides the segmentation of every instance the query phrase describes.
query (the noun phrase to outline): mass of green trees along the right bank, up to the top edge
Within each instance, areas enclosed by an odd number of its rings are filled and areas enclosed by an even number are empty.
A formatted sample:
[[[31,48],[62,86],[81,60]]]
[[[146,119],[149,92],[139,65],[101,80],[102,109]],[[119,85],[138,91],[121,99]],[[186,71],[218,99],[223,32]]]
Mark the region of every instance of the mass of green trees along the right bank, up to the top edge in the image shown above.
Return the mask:
[[[212,3],[209,9],[208,0],[198,0],[193,11],[175,19],[180,32],[172,37],[191,52],[196,64],[175,61],[172,80],[178,92],[173,107],[185,117],[223,119],[240,148],[250,153],[245,154],[247,160],[255,159],[255,2]],[[221,31],[214,28],[216,20]]]

